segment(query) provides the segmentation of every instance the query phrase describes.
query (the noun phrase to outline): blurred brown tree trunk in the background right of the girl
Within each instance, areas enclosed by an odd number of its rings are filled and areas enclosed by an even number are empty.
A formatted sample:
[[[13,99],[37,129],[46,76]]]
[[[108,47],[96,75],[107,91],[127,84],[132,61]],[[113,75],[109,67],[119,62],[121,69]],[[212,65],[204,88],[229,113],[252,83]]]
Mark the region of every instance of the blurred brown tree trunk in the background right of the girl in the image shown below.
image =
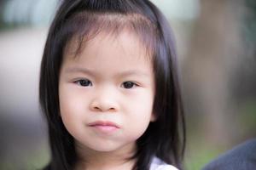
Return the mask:
[[[233,126],[229,74],[241,52],[238,0],[201,0],[201,14],[183,63],[185,105],[206,142],[224,145]],[[196,122],[195,117],[200,117]],[[193,125],[192,125],[193,126]]]

